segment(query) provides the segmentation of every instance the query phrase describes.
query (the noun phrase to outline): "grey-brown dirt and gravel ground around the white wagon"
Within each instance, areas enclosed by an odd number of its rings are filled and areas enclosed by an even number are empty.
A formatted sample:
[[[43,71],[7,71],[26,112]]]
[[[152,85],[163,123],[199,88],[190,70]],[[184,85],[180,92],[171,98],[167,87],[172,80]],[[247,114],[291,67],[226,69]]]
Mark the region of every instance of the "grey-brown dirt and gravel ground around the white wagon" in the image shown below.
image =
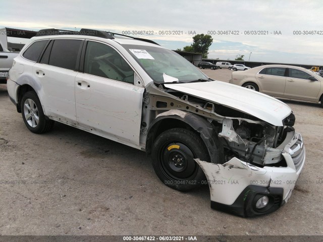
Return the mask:
[[[231,78],[229,70],[205,73]],[[142,151],[58,123],[29,132],[0,85],[0,234],[322,235],[323,108],[286,102],[305,141],[304,169],[286,205],[240,218],[212,210],[208,187],[165,186]]]

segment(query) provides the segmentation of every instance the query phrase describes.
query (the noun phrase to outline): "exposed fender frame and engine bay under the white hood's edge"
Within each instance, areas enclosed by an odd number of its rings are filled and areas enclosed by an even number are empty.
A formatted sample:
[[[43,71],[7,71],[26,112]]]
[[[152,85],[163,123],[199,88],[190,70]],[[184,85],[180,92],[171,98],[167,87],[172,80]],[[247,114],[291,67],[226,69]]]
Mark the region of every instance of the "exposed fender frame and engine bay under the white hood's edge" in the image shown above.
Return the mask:
[[[157,90],[169,97],[158,95]],[[146,96],[149,106],[151,105],[149,109],[156,110],[155,115],[177,109],[204,116],[211,123],[224,148],[224,160],[221,163],[236,157],[260,167],[286,166],[282,151],[287,143],[283,142],[286,142],[287,134],[294,131],[293,113],[282,120],[283,126],[274,126],[243,111],[172,89],[165,89],[163,85],[158,85],[155,91],[157,92],[150,90],[150,94]]]

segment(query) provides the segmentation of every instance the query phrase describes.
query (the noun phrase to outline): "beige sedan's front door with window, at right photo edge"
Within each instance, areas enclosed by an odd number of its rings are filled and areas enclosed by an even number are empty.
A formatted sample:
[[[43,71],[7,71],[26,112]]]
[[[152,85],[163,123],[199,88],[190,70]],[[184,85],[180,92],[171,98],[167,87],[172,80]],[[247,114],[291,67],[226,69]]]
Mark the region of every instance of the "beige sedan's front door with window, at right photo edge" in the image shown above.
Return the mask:
[[[320,90],[320,82],[315,77],[316,74],[310,75],[304,71],[289,68],[285,88],[285,96],[293,99],[314,100],[317,98]],[[317,81],[308,80],[314,77]]]

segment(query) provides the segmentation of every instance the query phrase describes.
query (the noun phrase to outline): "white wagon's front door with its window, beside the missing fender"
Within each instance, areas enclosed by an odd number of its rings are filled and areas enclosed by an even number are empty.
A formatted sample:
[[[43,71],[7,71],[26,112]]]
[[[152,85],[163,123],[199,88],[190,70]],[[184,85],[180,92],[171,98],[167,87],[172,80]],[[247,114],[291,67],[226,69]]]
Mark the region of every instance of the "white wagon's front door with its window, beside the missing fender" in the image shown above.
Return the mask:
[[[84,73],[75,79],[77,122],[112,140],[139,145],[144,88],[134,85],[137,74],[106,43],[88,41],[83,60]]]

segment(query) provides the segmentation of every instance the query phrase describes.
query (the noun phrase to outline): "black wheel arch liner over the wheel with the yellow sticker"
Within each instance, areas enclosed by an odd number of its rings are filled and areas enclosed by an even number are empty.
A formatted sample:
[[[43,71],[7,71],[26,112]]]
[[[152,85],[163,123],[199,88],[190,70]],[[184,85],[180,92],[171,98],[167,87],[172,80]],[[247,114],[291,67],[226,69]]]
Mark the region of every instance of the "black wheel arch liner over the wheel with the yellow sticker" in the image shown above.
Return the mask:
[[[174,114],[174,111],[178,113]],[[147,132],[147,155],[151,154],[156,137],[172,128],[185,128],[199,134],[208,151],[211,163],[223,163],[223,146],[212,125],[201,116],[181,110],[170,110],[161,113],[153,120]]]

